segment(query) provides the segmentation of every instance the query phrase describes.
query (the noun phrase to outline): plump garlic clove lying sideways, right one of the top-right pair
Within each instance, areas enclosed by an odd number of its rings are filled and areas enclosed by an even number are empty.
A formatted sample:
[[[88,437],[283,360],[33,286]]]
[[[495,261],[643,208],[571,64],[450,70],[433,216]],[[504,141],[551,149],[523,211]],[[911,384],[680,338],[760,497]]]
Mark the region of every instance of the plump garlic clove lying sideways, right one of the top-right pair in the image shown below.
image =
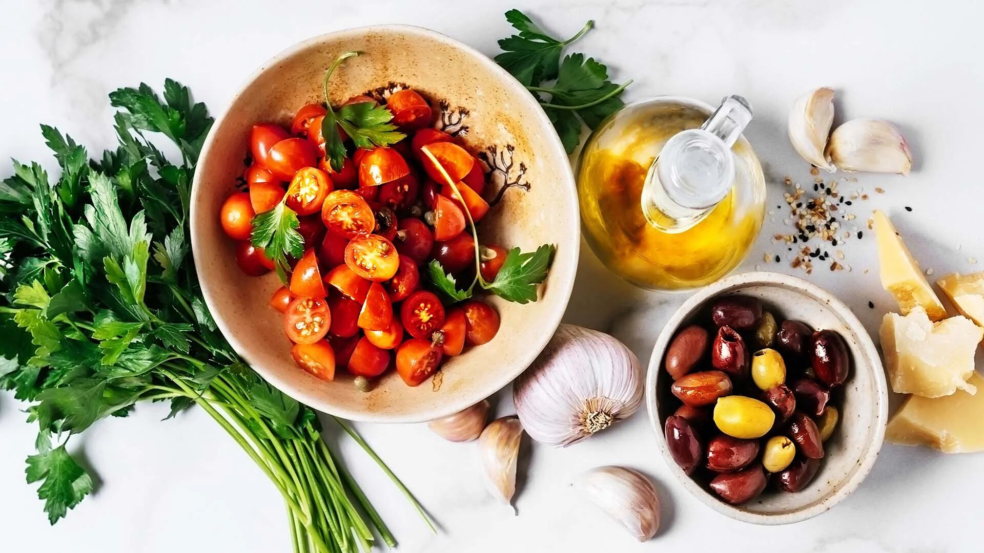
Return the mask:
[[[851,119],[833,130],[827,155],[844,171],[909,174],[912,152],[888,121]]]

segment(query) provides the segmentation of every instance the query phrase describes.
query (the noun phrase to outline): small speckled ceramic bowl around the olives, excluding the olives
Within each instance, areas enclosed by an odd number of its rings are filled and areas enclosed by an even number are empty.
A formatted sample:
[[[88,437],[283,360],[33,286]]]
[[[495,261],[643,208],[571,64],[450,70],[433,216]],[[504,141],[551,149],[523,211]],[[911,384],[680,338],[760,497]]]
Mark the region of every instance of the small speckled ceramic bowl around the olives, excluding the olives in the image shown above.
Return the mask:
[[[776,319],[803,321],[815,329],[840,333],[847,343],[851,367],[840,395],[840,422],[824,444],[825,458],[813,481],[798,493],[767,492],[744,505],[731,506],[717,499],[705,483],[684,473],[670,456],[663,423],[679,401],[670,394],[672,379],[662,369],[663,355],[677,329],[691,322],[708,321],[714,298],[740,294],[762,299]],[[816,517],[853,492],[878,458],[888,418],[888,386],[878,351],[853,313],[829,292],[795,276],[747,273],[724,278],[691,296],[666,323],[649,360],[646,407],[663,459],[685,488],[708,507],[743,522],[787,524]]]

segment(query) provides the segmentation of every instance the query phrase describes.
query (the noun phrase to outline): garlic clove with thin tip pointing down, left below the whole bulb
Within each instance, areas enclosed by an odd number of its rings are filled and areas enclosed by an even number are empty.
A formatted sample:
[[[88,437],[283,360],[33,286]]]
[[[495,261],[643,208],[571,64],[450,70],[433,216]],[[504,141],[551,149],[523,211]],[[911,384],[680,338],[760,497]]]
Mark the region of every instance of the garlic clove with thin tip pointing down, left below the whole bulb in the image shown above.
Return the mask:
[[[523,425],[515,416],[493,420],[478,437],[478,457],[489,493],[507,505],[516,493],[516,460],[522,437]]]

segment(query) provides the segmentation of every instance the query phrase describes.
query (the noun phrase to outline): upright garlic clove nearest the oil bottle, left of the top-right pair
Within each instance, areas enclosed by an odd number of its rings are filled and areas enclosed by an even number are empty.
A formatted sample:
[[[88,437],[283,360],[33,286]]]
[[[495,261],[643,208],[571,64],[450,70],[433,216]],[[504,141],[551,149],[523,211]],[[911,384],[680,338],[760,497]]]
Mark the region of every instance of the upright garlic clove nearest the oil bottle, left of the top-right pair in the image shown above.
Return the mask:
[[[796,99],[789,110],[789,142],[797,154],[814,165],[833,172],[835,167],[825,154],[830,125],[833,123],[833,89],[823,87]]]

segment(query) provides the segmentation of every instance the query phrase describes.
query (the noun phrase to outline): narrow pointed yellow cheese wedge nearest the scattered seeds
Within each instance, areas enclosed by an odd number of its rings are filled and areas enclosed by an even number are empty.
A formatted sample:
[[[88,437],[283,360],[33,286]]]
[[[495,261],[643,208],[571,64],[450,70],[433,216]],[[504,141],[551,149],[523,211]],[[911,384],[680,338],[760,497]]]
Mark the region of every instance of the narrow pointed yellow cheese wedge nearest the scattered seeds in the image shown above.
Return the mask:
[[[898,311],[902,315],[908,315],[914,307],[921,306],[933,321],[946,319],[946,308],[940,298],[936,297],[933,287],[926,276],[923,276],[919,264],[905,247],[905,242],[902,242],[889,217],[876,211],[874,227],[882,286],[895,297]]]

